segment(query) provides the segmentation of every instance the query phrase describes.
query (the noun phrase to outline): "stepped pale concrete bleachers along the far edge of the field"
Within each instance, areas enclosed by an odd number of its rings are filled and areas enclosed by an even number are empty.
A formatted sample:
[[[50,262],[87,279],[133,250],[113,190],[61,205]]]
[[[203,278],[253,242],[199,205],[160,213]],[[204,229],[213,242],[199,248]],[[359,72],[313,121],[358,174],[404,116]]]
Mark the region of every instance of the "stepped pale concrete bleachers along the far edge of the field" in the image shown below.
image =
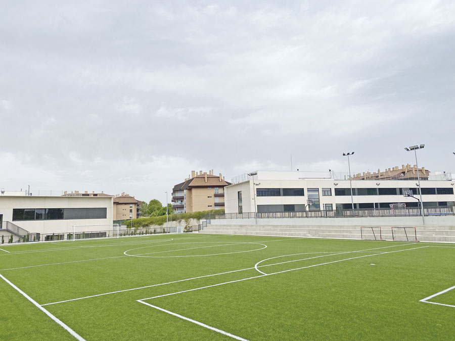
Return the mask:
[[[312,224],[314,221],[311,221],[311,219],[291,219],[291,223],[289,220],[285,221],[285,219],[274,219],[275,221],[272,221],[273,224],[270,224],[270,220],[272,219],[267,219],[267,224],[261,223],[262,219],[258,219],[257,225],[255,224],[255,219],[217,219],[216,221],[212,220],[200,232],[220,234],[361,239],[361,226],[381,226],[382,239],[392,240],[391,227],[406,226],[416,227],[417,240],[419,241],[455,242],[455,221],[452,225],[446,224],[447,219],[440,219],[438,221],[437,217],[431,217],[432,219],[428,219],[429,224],[422,225],[421,218],[399,218],[405,219],[394,218],[395,221],[393,224],[390,224],[390,221],[386,221],[384,218],[373,218],[370,221],[356,221],[357,218],[325,218],[319,219],[316,224]],[[344,219],[345,221],[342,221],[341,219]],[[383,220],[381,221],[381,219]],[[236,224],[238,220],[242,220],[242,222],[245,222],[245,220],[248,221],[247,223]],[[280,222],[286,222],[286,224],[280,224]],[[352,224],[359,222],[362,224]],[[413,224],[413,222],[420,222],[420,224]],[[435,222],[438,222],[439,224],[435,224]],[[451,220],[448,222],[451,223]],[[386,225],[384,223],[389,224]],[[364,230],[364,232],[367,234],[367,237],[369,234],[371,235],[371,229],[370,231]],[[377,230],[375,230],[375,232],[377,232]],[[403,232],[404,231],[402,229],[395,230],[394,233],[398,234],[397,239],[403,240]],[[412,230],[407,229],[407,233],[410,240],[414,238],[414,232]]]

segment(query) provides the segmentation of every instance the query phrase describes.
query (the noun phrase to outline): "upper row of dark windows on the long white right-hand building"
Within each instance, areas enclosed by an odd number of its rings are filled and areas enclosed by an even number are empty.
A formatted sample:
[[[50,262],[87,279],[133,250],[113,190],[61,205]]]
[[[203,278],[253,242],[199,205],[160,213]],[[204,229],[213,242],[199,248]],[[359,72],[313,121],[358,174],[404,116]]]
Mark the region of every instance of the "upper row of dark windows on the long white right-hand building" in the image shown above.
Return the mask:
[[[403,190],[412,190],[413,195],[419,194],[418,188],[352,188],[353,196],[402,196]],[[316,193],[319,198],[319,188],[307,188],[308,198],[310,192]],[[323,197],[332,196],[331,188],[322,188]],[[453,187],[447,188],[422,188],[423,195],[432,194],[453,194]],[[335,188],[335,196],[350,196],[350,188]],[[256,188],[256,196],[258,197],[303,197],[305,191],[303,188]],[[310,198],[311,199],[311,198]]]

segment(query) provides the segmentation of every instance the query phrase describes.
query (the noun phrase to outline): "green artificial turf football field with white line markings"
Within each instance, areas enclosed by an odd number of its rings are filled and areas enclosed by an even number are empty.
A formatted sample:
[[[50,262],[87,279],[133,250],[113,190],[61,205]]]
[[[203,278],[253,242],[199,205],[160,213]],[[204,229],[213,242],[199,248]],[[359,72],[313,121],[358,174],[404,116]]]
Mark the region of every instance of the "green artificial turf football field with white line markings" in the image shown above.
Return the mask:
[[[455,338],[455,289],[421,302],[455,286],[453,244],[188,233],[0,249],[2,340]]]

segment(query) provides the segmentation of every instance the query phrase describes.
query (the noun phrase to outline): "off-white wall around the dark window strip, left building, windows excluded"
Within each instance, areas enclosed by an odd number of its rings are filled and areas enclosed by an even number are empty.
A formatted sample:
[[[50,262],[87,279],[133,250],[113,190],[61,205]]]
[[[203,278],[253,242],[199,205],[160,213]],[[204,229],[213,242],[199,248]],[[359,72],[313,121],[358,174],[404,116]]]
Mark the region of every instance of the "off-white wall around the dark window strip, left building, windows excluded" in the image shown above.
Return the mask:
[[[13,221],[13,209],[42,209],[42,208],[106,208],[106,219],[58,219],[58,220],[27,220]],[[35,197],[35,196],[0,196],[0,214],[3,221],[10,221],[31,233],[71,232],[73,225],[84,226],[78,231],[97,231],[112,229],[113,197]]]

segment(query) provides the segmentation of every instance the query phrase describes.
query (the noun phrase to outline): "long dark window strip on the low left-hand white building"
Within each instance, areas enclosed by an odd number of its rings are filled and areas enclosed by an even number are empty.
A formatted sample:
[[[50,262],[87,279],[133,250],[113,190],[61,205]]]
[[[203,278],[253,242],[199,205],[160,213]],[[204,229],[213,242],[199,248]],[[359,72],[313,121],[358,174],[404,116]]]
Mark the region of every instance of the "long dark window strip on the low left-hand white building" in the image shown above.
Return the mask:
[[[65,208],[65,209],[13,209],[13,221],[18,220],[59,220],[59,219],[106,219],[107,209]]]

